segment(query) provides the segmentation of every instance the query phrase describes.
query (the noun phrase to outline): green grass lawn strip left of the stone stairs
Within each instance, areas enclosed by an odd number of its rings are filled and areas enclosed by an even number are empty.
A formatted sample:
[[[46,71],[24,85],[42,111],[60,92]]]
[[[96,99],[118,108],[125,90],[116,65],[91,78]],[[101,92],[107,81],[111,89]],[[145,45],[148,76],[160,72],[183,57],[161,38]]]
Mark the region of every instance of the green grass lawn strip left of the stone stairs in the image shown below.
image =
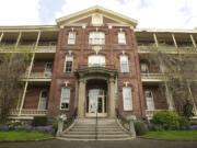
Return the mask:
[[[0,140],[33,140],[50,137],[53,137],[53,135],[40,132],[0,132]]]

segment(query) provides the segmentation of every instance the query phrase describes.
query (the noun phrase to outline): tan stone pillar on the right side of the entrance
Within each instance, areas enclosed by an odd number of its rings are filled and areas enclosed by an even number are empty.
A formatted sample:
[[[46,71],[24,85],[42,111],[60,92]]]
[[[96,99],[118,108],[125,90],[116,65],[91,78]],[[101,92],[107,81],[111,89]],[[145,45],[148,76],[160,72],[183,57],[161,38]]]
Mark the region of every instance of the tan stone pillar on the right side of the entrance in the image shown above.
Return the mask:
[[[109,88],[109,117],[116,117],[116,110],[115,110],[115,80],[114,78],[109,78],[108,81]]]

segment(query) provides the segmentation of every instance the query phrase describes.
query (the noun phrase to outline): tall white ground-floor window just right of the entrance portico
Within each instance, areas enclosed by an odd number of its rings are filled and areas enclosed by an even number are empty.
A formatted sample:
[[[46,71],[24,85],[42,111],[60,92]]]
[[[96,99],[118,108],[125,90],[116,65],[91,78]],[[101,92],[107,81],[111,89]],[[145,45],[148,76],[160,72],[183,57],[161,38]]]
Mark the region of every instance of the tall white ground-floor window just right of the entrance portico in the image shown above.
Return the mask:
[[[131,101],[130,88],[123,88],[123,99],[124,99],[124,111],[131,111],[132,101]]]

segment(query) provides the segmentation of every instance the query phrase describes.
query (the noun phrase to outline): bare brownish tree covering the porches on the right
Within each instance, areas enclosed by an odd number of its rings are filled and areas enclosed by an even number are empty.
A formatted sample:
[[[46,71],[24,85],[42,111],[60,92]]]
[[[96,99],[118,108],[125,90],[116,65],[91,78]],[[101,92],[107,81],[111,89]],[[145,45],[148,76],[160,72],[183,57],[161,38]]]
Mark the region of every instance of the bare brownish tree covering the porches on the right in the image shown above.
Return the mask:
[[[197,79],[197,56],[188,53],[167,54],[158,48],[154,54],[147,55],[146,59],[150,64],[160,65],[165,76],[165,82],[161,84],[161,88],[162,90],[164,87],[169,88],[175,111],[182,116],[194,115],[189,84]]]

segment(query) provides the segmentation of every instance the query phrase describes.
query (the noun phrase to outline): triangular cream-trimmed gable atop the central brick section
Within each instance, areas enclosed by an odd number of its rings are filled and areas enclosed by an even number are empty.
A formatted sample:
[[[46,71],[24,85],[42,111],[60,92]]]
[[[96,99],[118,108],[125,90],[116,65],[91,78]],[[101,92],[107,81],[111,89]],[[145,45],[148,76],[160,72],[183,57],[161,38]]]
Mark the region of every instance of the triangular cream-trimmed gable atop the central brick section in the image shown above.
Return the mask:
[[[59,26],[69,24],[106,25],[123,24],[136,27],[137,21],[101,7],[93,7],[56,20]]]

